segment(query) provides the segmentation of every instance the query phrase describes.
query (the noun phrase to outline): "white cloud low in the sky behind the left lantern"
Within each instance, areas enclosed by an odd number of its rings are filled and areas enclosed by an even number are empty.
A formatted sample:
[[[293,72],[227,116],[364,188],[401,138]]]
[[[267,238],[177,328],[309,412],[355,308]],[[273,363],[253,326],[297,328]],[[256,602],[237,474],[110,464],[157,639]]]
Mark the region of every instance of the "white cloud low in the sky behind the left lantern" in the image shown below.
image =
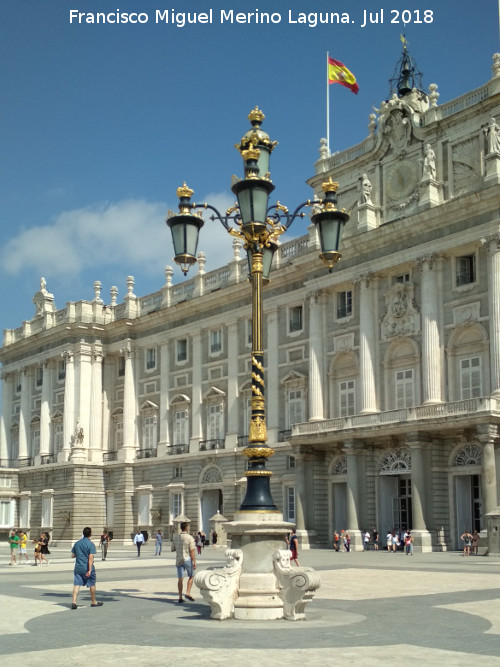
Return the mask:
[[[224,193],[206,199],[221,213],[233,203],[232,195]],[[76,277],[87,269],[113,266],[123,267],[124,273],[137,266],[157,273],[173,265],[166,211],[166,204],[133,199],[63,211],[50,224],[11,238],[0,251],[2,269],[12,276],[30,270],[50,277]],[[227,232],[209,215],[198,250],[206,253],[206,269],[212,270],[227,263],[233,251]]]

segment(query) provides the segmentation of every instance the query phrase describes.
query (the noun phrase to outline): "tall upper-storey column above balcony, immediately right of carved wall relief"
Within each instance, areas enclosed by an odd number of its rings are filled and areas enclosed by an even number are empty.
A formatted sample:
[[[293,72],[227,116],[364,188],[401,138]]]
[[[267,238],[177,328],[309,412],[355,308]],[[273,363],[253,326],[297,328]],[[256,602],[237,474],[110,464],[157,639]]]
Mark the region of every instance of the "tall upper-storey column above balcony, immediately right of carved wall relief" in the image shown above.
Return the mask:
[[[422,272],[422,387],[423,403],[442,402],[442,346],[439,326],[438,260],[433,255],[421,257]]]

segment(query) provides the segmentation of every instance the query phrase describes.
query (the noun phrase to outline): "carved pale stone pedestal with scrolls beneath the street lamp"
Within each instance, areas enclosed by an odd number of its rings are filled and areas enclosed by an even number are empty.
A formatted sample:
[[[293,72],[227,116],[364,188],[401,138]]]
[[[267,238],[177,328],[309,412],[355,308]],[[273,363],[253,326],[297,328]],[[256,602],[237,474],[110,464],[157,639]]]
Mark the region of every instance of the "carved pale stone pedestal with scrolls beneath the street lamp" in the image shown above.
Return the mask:
[[[239,512],[226,524],[231,549],[228,564],[199,572],[194,583],[209,602],[212,618],[223,620],[298,620],[319,587],[309,568],[290,567],[283,550],[294,524],[279,512]]]

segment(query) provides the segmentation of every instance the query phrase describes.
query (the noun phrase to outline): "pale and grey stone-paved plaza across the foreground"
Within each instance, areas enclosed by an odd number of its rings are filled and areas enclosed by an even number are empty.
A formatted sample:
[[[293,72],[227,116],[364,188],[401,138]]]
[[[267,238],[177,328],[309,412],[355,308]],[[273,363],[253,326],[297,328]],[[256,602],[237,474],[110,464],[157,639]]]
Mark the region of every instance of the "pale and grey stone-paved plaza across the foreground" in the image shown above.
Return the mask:
[[[167,545],[167,549],[169,546]],[[51,548],[48,566],[8,566],[0,547],[1,652],[9,664],[100,665],[500,665],[500,560],[459,553],[304,551],[300,563],[322,585],[303,622],[214,621],[195,602],[179,604],[174,560],[140,559],[112,543],[96,560],[98,599],[81,590],[71,610],[73,562]],[[222,565],[205,549],[199,568]]]

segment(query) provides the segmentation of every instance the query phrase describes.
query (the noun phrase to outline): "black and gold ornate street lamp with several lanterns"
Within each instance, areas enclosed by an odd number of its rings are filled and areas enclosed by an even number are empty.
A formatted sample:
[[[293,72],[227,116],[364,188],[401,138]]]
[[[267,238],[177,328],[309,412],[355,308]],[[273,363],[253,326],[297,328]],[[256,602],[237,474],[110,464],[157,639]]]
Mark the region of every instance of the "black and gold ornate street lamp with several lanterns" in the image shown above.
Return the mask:
[[[325,193],[322,200],[307,200],[291,214],[279,202],[269,206],[269,195],[274,190],[269,174],[269,159],[277,142],[271,141],[261,129],[265,116],[258,107],[250,112],[248,118],[252,128],[240,144],[236,145],[245,169],[245,177],[236,180],[231,187],[238,200],[237,204],[222,215],[210,204],[191,202],[193,190],[184,183],[177,190],[180,200],[179,213],[169,213],[167,224],[172,230],[174,259],[180,264],[184,275],[196,261],[198,233],[203,226],[202,212],[199,209],[213,211],[211,220],[218,220],[229,234],[243,240],[252,284],[252,413],[249,445],[243,450],[243,454],[248,457],[247,491],[240,511],[278,512],[271,496],[272,473],[266,470],[267,459],[274,454],[274,450],[267,445],[262,287],[268,279],[272,258],[278,247],[278,237],[290,227],[295,218],[305,215],[300,212],[301,209],[312,207],[311,220],[318,228],[321,243],[320,259],[329,271],[341,257],[340,239],[349,215],[345,210],[337,209],[335,193],[338,183],[331,179],[322,185]]]

